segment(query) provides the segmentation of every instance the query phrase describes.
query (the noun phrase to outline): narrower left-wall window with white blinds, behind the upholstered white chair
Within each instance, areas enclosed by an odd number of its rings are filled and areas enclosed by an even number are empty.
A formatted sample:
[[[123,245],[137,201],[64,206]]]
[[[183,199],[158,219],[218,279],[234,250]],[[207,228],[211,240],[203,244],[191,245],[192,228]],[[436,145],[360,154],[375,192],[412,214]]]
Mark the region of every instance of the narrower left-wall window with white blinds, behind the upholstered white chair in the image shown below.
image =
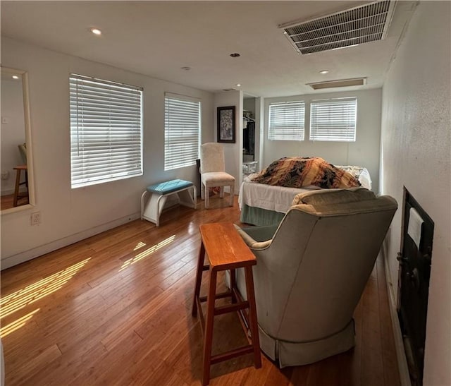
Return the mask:
[[[196,164],[201,134],[201,102],[166,93],[164,98],[164,170]]]

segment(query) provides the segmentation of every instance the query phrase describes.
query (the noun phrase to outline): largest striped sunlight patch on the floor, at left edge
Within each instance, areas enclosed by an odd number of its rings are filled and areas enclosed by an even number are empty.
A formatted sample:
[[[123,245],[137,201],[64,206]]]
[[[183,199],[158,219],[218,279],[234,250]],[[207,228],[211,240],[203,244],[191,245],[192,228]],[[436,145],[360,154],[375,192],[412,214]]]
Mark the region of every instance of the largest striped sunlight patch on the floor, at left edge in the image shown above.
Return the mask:
[[[29,286],[19,289],[13,294],[4,296],[0,299],[0,319],[5,318],[17,310],[28,306],[29,304],[35,303],[41,298],[58,291],[64,284],[66,284],[85,264],[91,260],[87,258],[80,261],[80,263],[71,265],[65,270],[56,272],[54,275],[49,277],[44,277],[44,279],[39,280],[30,284]]]

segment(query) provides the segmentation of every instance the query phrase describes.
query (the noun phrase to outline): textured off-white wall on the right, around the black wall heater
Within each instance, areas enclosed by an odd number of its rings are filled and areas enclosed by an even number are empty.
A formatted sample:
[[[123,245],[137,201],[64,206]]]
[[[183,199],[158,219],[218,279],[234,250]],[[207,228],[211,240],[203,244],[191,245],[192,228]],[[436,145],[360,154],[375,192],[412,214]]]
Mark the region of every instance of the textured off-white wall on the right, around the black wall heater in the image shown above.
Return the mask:
[[[434,227],[424,385],[451,385],[451,3],[421,1],[383,86],[383,193],[405,186]],[[402,210],[388,234],[397,289]],[[392,299],[393,300],[393,299]]]

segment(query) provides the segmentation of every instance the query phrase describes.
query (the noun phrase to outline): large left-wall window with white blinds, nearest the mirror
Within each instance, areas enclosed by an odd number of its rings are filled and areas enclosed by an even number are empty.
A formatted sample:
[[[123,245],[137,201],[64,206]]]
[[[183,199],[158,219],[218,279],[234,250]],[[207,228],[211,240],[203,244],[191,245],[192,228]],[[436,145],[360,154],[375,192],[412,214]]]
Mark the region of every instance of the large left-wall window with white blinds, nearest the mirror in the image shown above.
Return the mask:
[[[72,188],[142,175],[142,88],[70,74]]]

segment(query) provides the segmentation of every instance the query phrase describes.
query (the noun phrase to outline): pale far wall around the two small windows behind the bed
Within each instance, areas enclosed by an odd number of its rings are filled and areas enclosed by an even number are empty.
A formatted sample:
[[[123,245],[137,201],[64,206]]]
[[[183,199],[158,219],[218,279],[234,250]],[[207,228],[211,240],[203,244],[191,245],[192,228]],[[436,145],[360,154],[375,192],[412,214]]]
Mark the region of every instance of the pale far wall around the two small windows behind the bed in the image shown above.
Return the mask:
[[[381,139],[381,89],[330,92],[315,95],[297,95],[265,99],[264,123],[264,164],[268,166],[280,157],[322,157],[332,164],[358,165],[368,169],[372,190],[378,193],[379,155]],[[338,97],[357,97],[357,132],[356,141],[352,143],[312,142],[309,140],[310,102],[312,99]],[[305,101],[305,140],[284,141],[268,140],[269,104],[283,101]]]

